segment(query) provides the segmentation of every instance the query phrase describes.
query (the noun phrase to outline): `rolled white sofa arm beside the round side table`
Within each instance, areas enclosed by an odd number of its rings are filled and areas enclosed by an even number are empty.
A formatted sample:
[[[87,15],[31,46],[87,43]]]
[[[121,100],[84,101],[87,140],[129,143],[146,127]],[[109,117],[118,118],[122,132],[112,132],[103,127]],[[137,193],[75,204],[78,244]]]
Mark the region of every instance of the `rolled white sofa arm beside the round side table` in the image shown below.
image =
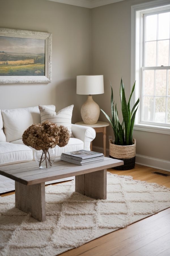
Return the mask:
[[[95,130],[92,127],[71,124],[73,136],[84,142],[84,149],[90,150],[90,142],[95,138]]]

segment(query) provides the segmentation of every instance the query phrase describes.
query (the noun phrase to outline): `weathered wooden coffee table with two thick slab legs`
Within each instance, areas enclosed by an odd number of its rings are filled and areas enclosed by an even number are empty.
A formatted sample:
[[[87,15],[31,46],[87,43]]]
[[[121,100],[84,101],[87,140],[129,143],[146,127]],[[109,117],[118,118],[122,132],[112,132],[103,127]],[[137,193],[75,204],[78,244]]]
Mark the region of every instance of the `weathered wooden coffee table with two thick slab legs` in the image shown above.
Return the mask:
[[[75,191],[95,199],[106,199],[107,168],[123,161],[105,157],[103,162],[80,166],[61,161],[50,169],[39,169],[35,161],[0,166],[0,174],[15,180],[15,206],[39,221],[46,219],[45,182],[75,176]]]

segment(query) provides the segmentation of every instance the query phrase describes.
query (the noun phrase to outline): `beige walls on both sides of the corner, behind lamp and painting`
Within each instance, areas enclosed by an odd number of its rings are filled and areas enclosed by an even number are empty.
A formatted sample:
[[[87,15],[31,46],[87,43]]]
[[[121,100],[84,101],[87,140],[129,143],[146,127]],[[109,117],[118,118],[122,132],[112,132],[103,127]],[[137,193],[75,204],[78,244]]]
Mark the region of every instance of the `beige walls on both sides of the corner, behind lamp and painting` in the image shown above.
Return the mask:
[[[95,95],[94,100],[111,113],[111,80],[120,113],[121,77],[130,94],[131,5],[146,1],[126,0],[87,9],[45,0],[1,0],[1,27],[52,33],[52,83],[0,85],[0,108],[54,104],[59,110],[74,104],[72,122],[80,121],[86,96],[76,95],[76,75],[92,71],[103,74],[105,83],[105,93]],[[99,120],[107,121],[102,113]],[[113,136],[111,127],[107,127],[107,148],[108,135]],[[134,131],[134,137],[137,154],[170,160],[169,135]],[[103,147],[101,134],[93,145]]]

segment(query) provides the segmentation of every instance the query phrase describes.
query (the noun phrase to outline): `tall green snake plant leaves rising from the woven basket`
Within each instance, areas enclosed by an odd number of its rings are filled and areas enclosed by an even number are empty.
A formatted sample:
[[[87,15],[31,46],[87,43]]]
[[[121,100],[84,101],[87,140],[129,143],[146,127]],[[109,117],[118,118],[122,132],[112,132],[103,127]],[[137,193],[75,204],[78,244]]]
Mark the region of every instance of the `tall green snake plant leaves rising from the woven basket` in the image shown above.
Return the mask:
[[[128,104],[126,102],[126,96],[125,96],[125,90],[124,90],[124,84],[121,79],[120,83],[120,101],[121,101],[121,107],[122,107],[122,116],[123,116],[123,122],[122,124],[120,123],[118,119],[118,110],[117,106],[115,104],[114,107],[114,102],[113,102],[113,90],[111,86],[111,113],[112,113],[112,118],[108,116],[102,109],[101,111],[104,113],[106,118],[109,120],[109,122],[112,125],[113,132],[114,132],[114,137],[115,137],[115,144],[116,145],[132,145],[132,136],[133,136],[133,125],[135,122],[135,115],[137,112],[138,104],[139,104],[139,99],[133,106],[132,110],[130,110],[130,100],[131,96],[133,94],[133,91],[135,89],[135,83],[133,84],[133,88],[131,90],[131,94],[129,97]]]

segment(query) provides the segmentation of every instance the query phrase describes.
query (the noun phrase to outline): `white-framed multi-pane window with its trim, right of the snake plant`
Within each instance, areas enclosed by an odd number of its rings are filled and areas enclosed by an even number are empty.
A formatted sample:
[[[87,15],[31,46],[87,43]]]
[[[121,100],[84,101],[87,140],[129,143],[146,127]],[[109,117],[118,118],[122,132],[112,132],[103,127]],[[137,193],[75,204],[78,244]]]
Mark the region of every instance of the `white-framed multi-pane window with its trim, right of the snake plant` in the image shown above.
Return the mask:
[[[170,134],[170,5],[163,2],[132,7],[131,84],[140,97],[134,129]]]

